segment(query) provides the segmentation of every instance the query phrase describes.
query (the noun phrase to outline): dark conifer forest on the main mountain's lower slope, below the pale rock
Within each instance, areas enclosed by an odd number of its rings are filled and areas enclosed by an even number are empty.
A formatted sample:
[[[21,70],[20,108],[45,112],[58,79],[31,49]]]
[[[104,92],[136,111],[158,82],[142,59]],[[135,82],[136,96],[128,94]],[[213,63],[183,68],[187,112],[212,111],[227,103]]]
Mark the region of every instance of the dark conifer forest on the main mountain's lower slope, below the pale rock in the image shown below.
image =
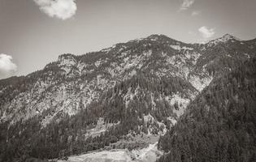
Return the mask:
[[[161,95],[170,96],[176,92],[186,96],[188,90],[196,91],[183,79],[158,79],[153,75],[141,73],[132,79],[116,83],[115,87],[102,94],[100,100],[89,104],[86,109],[80,108],[76,115],[56,117],[46,127],[41,126],[41,115],[14,125],[2,123],[0,160],[26,160],[30,157],[54,159],[97,150],[124,139],[129,133],[147,134],[149,126],[142,120],[143,115],[147,114],[170,127],[171,122],[167,117],[176,118],[172,109],[178,109],[178,106],[174,108],[165,100],[155,100],[158,109],[154,109],[150,97],[152,94],[158,98]],[[130,102],[126,105],[124,96],[129,93],[137,95],[128,98]],[[103,117],[106,123],[119,124],[111,126],[98,136],[86,136],[87,131],[95,127],[99,117]],[[151,125],[152,134],[163,131],[163,126],[156,122]]]

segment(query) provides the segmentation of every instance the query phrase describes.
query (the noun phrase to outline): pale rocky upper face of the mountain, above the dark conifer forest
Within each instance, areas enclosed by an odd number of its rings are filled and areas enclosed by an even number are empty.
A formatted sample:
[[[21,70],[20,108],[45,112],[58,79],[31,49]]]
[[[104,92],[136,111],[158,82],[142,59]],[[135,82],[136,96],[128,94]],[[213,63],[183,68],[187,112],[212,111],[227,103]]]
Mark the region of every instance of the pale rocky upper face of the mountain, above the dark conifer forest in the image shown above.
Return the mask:
[[[229,70],[232,62],[254,54],[253,40],[242,41],[230,35],[201,45],[152,35],[82,56],[63,54],[20,83],[1,81],[1,121],[15,123],[41,114],[46,125],[58,114],[72,115],[85,109],[102,92],[138,71],[186,80],[197,91],[184,100],[193,100],[216,75]]]

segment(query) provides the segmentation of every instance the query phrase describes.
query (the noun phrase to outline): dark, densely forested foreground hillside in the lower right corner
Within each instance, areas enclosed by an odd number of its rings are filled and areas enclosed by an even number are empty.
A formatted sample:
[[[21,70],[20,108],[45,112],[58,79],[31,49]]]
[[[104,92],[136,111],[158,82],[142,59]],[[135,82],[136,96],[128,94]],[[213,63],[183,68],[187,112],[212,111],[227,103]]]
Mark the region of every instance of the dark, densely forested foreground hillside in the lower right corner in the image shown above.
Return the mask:
[[[254,161],[256,58],[210,83],[160,140],[159,161]]]

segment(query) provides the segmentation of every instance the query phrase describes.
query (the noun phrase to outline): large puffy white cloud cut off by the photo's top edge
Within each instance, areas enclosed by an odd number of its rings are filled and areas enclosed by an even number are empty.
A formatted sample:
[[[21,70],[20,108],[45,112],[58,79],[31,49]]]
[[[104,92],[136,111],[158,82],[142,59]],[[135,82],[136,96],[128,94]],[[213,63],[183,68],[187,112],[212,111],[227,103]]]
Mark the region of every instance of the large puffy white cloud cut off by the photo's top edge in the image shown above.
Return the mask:
[[[33,0],[40,10],[59,19],[68,19],[76,14],[76,0]]]

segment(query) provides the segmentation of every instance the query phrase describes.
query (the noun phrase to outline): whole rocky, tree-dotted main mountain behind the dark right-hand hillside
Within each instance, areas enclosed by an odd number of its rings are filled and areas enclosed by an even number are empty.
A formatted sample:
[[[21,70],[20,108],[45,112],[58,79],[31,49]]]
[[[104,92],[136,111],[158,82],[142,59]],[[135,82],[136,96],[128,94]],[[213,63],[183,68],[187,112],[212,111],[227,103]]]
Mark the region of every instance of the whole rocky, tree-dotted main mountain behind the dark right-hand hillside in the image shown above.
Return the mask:
[[[0,159],[53,159],[121,147],[110,143],[129,135],[163,135],[205,87],[255,51],[256,40],[230,35],[206,44],[152,35],[2,79]]]

